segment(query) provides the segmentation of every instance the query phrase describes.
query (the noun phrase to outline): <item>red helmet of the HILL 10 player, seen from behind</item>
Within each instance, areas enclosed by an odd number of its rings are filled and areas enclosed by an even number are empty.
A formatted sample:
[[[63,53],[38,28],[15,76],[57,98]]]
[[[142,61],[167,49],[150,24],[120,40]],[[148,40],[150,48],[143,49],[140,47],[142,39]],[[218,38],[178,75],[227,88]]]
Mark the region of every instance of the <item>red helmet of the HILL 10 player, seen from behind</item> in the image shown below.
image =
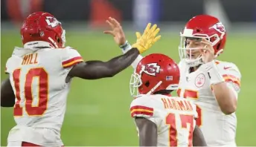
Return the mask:
[[[32,13],[23,22],[20,33],[26,48],[63,48],[65,45],[65,30],[50,13]]]

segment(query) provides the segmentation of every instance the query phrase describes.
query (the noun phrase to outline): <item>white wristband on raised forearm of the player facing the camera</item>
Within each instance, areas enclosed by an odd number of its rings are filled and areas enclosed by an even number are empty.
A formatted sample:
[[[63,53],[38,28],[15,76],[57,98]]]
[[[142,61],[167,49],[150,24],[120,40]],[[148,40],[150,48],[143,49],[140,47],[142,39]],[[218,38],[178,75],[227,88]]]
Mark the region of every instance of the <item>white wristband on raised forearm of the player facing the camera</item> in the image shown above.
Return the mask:
[[[211,85],[225,82],[223,76],[219,73],[219,70],[214,61],[205,63],[205,70],[210,78]]]

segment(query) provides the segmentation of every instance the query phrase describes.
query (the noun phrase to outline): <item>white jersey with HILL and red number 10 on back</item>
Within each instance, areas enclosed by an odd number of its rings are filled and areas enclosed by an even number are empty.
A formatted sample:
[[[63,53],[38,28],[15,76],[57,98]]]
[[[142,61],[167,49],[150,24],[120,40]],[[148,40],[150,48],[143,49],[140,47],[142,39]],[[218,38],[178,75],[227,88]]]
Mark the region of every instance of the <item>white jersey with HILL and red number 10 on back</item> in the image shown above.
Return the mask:
[[[6,64],[16,95],[16,126],[9,133],[8,143],[63,146],[60,129],[70,87],[65,79],[79,62],[83,62],[82,57],[70,47],[14,49]]]

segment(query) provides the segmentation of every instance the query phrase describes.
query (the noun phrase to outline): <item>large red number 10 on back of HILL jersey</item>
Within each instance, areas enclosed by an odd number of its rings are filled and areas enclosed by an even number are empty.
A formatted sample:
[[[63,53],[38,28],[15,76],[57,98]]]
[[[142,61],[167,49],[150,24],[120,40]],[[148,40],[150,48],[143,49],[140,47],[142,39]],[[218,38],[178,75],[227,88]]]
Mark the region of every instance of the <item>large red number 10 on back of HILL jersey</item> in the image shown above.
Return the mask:
[[[23,74],[24,75],[24,74]],[[48,73],[44,68],[31,68],[25,77],[21,77],[21,69],[16,69],[13,71],[13,81],[16,91],[16,103],[14,105],[13,115],[16,117],[21,117],[23,115],[23,108],[20,105],[22,101],[25,101],[25,111],[28,116],[41,116],[45,113],[48,103]],[[37,81],[35,80],[37,78]],[[25,85],[21,85],[20,80],[25,79]],[[36,105],[33,105],[33,82],[38,85],[37,94],[38,101]],[[21,87],[22,86],[22,87]],[[24,89],[21,89],[24,88]],[[21,99],[21,91],[24,91],[24,99]]]

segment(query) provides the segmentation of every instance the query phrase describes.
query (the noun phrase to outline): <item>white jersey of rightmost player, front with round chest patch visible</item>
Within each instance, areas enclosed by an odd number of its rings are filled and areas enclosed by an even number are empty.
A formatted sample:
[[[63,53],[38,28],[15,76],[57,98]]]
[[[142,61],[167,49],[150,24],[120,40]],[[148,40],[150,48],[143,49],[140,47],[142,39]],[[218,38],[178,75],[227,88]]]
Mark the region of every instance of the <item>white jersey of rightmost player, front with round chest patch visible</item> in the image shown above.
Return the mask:
[[[216,64],[228,87],[237,96],[240,91],[241,79],[237,66],[230,62],[220,61],[216,61]],[[181,77],[177,93],[180,97],[191,99],[197,105],[196,125],[202,129],[208,146],[236,146],[236,114],[225,115],[220,110],[211,88],[208,73],[201,67],[189,73],[189,67],[183,60],[179,62],[179,69]]]

